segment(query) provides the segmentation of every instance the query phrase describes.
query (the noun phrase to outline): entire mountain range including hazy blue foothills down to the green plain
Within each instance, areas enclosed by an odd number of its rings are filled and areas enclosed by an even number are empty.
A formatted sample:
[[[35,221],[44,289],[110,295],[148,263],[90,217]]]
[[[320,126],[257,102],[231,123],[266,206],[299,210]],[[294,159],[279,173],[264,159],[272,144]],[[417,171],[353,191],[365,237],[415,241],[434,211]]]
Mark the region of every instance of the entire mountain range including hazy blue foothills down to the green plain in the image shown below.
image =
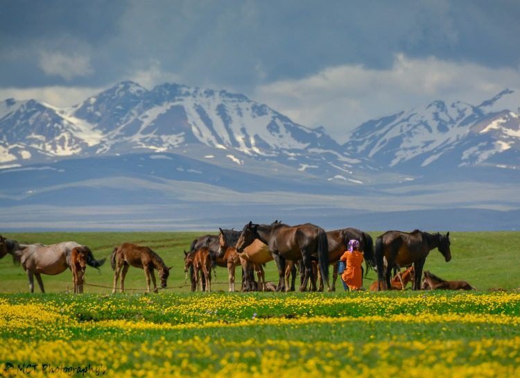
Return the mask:
[[[478,105],[434,101],[367,121],[340,144],[225,90],[127,81],[71,108],[10,98],[0,102],[0,204],[10,210],[0,227],[202,230],[255,215],[346,227],[350,215],[383,230],[440,227],[451,214],[467,219],[459,229],[512,229],[519,107],[510,89]],[[103,216],[90,223],[71,215],[94,207]],[[129,207],[154,210],[130,223],[113,215]],[[175,215],[158,220],[168,207]]]

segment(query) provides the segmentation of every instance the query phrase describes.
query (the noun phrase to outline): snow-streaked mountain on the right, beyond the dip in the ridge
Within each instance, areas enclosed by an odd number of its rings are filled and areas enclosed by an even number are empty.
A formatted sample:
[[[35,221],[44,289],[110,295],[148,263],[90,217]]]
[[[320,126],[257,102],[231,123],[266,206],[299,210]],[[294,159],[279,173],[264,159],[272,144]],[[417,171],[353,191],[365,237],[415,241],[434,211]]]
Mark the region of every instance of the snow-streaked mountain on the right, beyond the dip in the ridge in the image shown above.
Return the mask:
[[[354,130],[344,148],[401,171],[439,164],[448,169],[519,168],[520,99],[514,110],[501,108],[512,94],[506,89],[477,106],[434,101],[424,108],[367,121]]]

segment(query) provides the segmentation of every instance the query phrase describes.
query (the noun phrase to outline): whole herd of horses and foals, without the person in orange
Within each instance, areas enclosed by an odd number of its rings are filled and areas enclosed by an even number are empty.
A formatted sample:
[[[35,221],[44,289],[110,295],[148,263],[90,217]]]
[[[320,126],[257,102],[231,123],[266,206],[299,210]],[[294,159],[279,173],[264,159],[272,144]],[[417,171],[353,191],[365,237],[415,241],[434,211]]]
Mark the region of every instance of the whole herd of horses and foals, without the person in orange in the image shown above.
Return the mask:
[[[451,259],[449,232],[445,235],[388,231],[377,237],[376,243],[366,232],[356,228],[324,231],[311,223],[286,225],[275,221],[270,225],[247,223],[241,231],[219,229],[217,235],[205,234],[193,240],[189,251],[184,251],[184,272],[191,277],[191,290],[211,291],[211,269],[223,266],[228,270],[229,291],[235,290],[234,271],[241,266],[242,291],[290,291],[295,289],[297,267],[300,268],[300,291],[322,291],[324,284],[335,290],[338,260],[347,249],[349,240],[360,242],[365,257],[365,269],[377,271],[377,281],[371,291],[404,289],[408,282],[413,289],[474,289],[464,281],[449,282],[425,271],[428,253],[437,248],[446,261]],[[56,275],[69,268],[73,275],[74,293],[83,293],[85,268],[99,268],[105,259],[96,260],[87,246],[68,241],[51,246],[19,244],[0,236],[0,258],[10,254],[15,263],[26,270],[29,289],[34,291],[33,277],[44,292],[42,274]],[[154,270],[159,273],[160,286],[167,287],[172,267],[166,266],[157,253],[148,247],[123,243],[114,248],[110,257],[114,270],[112,293],[124,291],[125,275],[130,266],[144,269],[146,286],[157,292]],[[266,282],[263,266],[275,261],[279,281],[275,286]],[[333,266],[333,281],[329,284],[329,265]],[[401,273],[401,268],[406,268]],[[395,277],[392,277],[392,270]],[[254,273],[257,281],[254,280]],[[318,283],[319,282],[319,283]]]

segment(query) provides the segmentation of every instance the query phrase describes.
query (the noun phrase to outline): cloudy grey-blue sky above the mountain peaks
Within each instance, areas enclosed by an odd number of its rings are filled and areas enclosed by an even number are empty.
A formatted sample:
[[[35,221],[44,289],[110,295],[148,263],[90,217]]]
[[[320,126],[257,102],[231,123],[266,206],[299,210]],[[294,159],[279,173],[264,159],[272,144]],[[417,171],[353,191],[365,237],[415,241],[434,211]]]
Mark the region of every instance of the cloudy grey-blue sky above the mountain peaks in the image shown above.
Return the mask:
[[[65,107],[122,80],[175,82],[343,141],[385,114],[520,89],[519,36],[518,0],[8,0],[0,100]]]

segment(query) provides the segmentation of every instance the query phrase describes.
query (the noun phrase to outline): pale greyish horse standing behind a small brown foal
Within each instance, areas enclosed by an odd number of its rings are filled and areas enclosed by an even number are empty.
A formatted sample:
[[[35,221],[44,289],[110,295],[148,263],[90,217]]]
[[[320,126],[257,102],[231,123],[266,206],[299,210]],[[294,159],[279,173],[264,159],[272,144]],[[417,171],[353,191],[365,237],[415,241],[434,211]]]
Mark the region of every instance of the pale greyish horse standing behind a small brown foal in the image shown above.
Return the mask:
[[[21,266],[26,270],[29,279],[29,290],[34,292],[34,279],[40,285],[40,290],[45,293],[42,274],[57,275],[65,269],[71,269],[71,250],[82,247],[75,241],[65,241],[63,243],[44,246],[42,244],[30,244],[21,251]],[[85,246],[83,246],[85,247]],[[85,247],[87,248],[87,247]],[[87,248],[87,265],[99,268],[105,263],[105,259],[96,260],[92,251]]]

